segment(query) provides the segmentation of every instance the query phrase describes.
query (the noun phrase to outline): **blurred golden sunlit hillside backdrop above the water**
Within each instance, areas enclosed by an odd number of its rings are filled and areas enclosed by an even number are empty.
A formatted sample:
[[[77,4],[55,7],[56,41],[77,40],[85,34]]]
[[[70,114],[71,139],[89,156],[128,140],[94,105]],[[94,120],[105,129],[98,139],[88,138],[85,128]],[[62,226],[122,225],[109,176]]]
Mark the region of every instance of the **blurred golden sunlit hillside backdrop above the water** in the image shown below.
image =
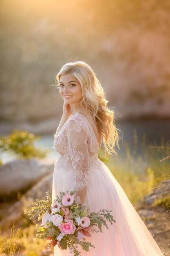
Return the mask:
[[[55,133],[63,100],[50,85],[75,60],[91,65],[119,121],[170,118],[170,2],[0,0],[0,19],[2,134]]]

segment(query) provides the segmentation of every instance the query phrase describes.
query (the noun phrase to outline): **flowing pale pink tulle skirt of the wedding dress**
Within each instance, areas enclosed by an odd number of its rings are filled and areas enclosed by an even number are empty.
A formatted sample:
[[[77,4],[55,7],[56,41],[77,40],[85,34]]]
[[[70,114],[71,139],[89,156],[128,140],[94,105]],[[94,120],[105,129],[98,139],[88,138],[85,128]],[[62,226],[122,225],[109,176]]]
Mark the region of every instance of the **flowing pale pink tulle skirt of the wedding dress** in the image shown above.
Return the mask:
[[[52,198],[60,191],[74,190],[73,168],[54,167]],[[90,171],[85,203],[88,213],[108,209],[115,223],[107,221],[109,229],[102,226],[102,233],[85,237],[95,248],[85,252],[78,245],[81,256],[163,256],[161,249],[148,231],[143,220],[132,206],[108,167],[98,159],[98,168]],[[98,229],[97,226],[95,226]],[[73,256],[69,249],[54,247],[54,256]]]

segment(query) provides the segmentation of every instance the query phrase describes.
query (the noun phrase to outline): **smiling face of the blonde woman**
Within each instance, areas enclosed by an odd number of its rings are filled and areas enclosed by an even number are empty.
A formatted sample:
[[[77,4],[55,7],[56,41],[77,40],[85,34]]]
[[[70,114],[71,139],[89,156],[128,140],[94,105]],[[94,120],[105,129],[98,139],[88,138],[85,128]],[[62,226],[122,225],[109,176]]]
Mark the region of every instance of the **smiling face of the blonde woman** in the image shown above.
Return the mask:
[[[82,88],[75,76],[72,74],[63,74],[60,76],[59,83],[60,94],[66,103],[76,104],[82,99]]]

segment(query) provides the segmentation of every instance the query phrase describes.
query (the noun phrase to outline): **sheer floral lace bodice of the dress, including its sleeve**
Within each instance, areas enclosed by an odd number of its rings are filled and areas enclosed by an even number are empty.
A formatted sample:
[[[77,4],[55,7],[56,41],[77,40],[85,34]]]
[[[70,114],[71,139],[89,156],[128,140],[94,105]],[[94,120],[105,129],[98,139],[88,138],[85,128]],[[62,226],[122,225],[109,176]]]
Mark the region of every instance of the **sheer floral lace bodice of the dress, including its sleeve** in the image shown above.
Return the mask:
[[[79,113],[70,116],[55,136],[53,145],[60,156],[54,166],[75,170],[75,189],[88,187],[89,172],[97,168],[101,144],[91,124]]]

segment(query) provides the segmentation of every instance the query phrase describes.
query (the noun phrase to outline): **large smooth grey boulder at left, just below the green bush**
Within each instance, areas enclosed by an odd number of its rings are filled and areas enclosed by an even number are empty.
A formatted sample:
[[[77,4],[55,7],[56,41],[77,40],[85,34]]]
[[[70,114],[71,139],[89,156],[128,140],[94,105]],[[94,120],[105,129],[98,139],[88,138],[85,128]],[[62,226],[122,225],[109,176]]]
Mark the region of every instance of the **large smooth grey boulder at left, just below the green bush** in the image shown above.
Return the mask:
[[[14,160],[0,166],[0,196],[26,191],[42,177],[53,172],[53,164],[29,160]]]

